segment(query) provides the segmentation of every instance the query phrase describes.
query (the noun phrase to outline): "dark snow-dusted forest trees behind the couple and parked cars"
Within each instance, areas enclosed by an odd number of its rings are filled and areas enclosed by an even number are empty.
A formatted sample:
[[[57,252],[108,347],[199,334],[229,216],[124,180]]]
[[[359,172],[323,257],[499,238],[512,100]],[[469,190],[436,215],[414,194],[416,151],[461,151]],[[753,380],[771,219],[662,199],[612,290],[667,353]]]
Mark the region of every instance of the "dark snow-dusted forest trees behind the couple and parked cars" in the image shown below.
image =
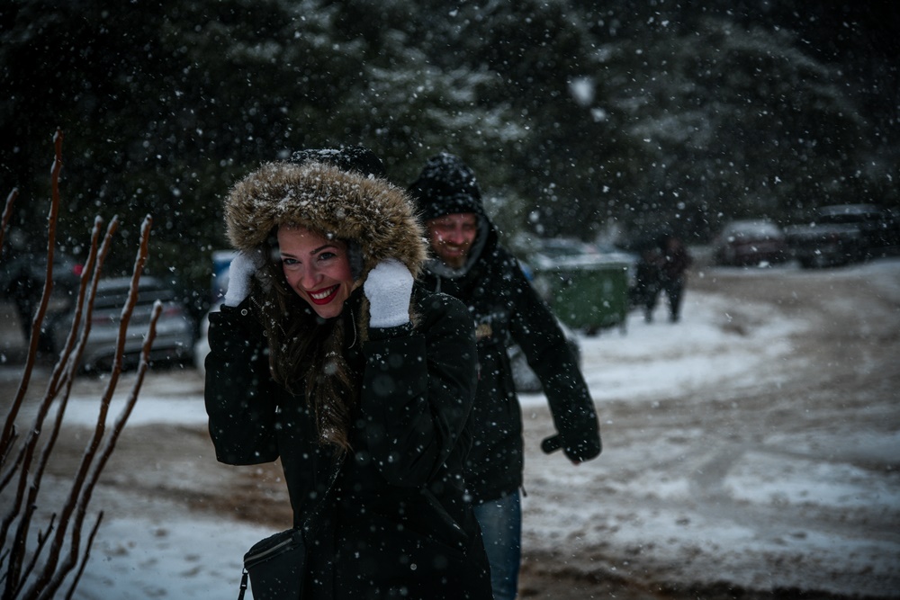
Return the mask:
[[[898,206],[897,6],[6,0],[0,193],[43,240],[59,128],[64,251],[97,214],[128,248],[151,214],[148,272],[200,294],[229,186],[298,148],[364,145],[404,187],[454,152],[508,237],[702,243],[728,219]]]

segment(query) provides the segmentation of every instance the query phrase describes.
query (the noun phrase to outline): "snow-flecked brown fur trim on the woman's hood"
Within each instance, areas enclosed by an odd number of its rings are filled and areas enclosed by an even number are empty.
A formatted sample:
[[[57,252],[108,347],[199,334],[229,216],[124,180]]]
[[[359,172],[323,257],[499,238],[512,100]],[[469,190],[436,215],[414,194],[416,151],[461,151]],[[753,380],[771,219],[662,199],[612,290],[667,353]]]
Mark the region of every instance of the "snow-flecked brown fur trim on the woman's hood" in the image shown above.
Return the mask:
[[[418,277],[428,254],[414,205],[401,188],[322,162],[264,164],[230,190],[225,222],[231,244],[243,251],[264,246],[287,224],[356,242],[361,280],[387,258]]]

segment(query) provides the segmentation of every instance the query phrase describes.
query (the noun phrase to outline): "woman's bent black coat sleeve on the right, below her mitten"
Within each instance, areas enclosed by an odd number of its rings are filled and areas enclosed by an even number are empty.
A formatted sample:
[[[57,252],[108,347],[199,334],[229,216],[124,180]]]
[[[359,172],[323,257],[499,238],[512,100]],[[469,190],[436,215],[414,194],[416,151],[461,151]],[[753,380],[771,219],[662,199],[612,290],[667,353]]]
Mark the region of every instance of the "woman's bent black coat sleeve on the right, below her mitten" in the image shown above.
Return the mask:
[[[458,300],[428,294],[413,327],[369,329],[361,412],[365,435],[392,485],[432,479],[457,443],[477,384],[473,321]]]

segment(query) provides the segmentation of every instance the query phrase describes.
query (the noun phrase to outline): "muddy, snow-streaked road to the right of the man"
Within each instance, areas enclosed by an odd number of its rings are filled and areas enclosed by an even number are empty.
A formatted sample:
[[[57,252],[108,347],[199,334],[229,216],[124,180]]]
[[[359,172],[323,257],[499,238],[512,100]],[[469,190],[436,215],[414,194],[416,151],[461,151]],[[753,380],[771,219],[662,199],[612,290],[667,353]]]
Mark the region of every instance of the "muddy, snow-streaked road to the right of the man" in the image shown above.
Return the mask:
[[[585,341],[606,447],[528,457],[527,570],[575,588],[536,597],[900,596],[900,264],[702,274]]]

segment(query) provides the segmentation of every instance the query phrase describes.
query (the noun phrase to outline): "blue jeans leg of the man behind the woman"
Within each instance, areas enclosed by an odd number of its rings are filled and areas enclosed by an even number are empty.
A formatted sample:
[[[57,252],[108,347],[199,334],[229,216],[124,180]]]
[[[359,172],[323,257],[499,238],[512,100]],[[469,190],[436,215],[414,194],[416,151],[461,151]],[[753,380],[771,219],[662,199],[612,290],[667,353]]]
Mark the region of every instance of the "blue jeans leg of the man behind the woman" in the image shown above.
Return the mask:
[[[474,506],[474,510],[491,563],[494,600],[514,600],[522,558],[522,500],[518,489],[509,496]]]

